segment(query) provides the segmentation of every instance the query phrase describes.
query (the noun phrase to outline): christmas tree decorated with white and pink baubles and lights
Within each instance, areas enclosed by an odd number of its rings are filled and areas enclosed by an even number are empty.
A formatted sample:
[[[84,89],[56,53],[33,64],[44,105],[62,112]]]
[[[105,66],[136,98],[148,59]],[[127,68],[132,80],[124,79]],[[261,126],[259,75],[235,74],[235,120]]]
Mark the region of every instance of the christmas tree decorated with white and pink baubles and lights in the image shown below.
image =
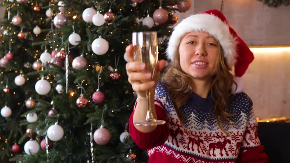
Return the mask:
[[[0,158],[21,163],[147,162],[127,132],[132,32],[157,31],[159,59],[177,0],[6,0],[0,34]]]

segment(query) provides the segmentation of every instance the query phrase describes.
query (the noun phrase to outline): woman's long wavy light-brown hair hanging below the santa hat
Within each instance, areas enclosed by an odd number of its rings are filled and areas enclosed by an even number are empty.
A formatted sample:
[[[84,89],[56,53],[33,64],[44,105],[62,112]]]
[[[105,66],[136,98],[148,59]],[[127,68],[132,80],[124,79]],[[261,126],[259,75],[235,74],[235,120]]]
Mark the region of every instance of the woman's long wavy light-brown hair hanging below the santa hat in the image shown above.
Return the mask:
[[[212,38],[218,44],[219,53],[215,64],[216,74],[213,76],[210,87],[210,93],[214,101],[211,113],[215,114],[220,129],[228,135],[222,127],[222,123],[226,125],[232,124],[229,117],[234,114],[228,113],[227,110],[230,99],[232,98],[231,87],[233,83],[236,83],[233,81],[232,74],[230,73],[231,67],[227,64],[219,41],[214,37]],[[179,61],[179,53],[174,55],[172,64],[166,69],[161,81],[165,83],[165,86],[173,99],[177,115],[183,124],[184,117],[181,113],[181,108],[189,100],[195,85],[192,82],[192,77],[182,71]],[[213,110],[215,111],[213,112]]]

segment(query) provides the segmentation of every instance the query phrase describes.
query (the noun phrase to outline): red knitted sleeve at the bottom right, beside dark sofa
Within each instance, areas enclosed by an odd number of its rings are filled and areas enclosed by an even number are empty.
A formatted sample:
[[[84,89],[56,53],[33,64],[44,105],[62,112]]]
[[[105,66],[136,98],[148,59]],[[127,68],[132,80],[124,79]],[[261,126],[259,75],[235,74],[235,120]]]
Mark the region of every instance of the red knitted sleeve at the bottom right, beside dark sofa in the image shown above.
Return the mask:
[[[237,160],[237,163],[269,163],[269,157],[264,153],[264,146],[244,149]]]

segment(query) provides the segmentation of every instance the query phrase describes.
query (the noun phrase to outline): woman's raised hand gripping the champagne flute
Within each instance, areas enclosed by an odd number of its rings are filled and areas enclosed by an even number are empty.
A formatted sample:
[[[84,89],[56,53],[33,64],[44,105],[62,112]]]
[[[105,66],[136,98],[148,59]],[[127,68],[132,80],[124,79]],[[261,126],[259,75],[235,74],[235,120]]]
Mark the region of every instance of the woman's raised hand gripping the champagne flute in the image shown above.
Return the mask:
[[[132,44],[126,47],[126,55],[129,58],[129,62],[126,64],[128,81],[131,83],[133,90],[136,91],[136,93],[138,94],[138,98],[146,98],[145,91],[149,88],[154,88],[150,89],[152,90],[152,95],[154,95],[156,83],[160,80],[160,72],[165,67],[165,60],[160,60],[157,63],[156,73],[152,81],[141,82],[151,79],[152,74],[148,72],[143,72],[143,70],[145,70],[145,63],[134,61]]]

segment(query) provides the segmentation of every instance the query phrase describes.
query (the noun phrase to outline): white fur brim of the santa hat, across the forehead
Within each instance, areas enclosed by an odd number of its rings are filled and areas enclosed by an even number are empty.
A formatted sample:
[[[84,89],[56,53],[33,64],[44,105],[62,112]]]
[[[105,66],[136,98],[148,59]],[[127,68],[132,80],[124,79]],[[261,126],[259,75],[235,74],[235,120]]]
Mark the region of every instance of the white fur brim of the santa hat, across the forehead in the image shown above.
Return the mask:
[[[181,37],[191,31],[208,32],[220,42],[228,65],[232,66],[236,62],[236,39],[230,33],[228,24],[207,13],[191,15],[174,27],[166,50],[169,60],[172,61],[178,53]]]

